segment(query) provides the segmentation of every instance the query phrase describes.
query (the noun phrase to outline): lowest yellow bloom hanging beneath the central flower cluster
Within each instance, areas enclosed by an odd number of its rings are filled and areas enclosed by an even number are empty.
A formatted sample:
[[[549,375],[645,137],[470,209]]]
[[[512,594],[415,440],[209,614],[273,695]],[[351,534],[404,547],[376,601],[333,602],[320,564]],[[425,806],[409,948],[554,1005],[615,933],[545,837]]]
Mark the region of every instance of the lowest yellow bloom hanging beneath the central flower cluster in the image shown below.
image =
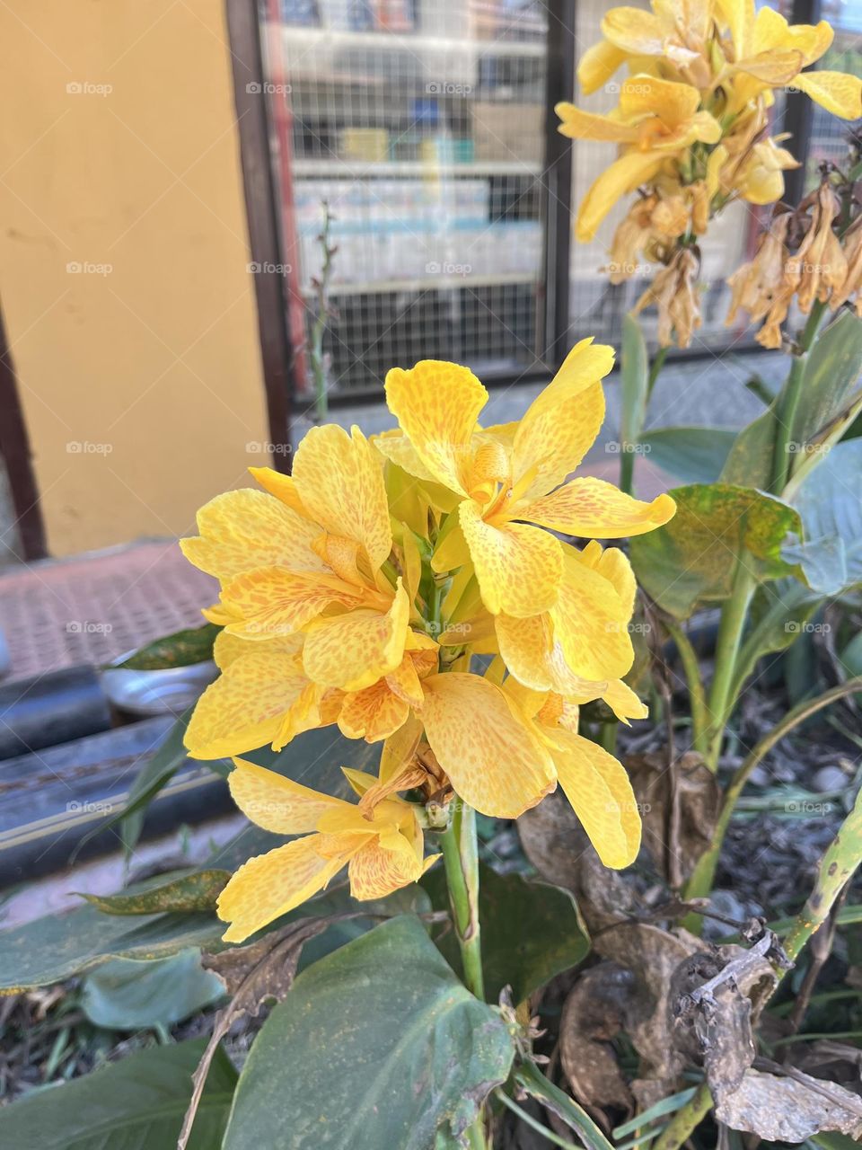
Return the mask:
[[[218,917],[230,923],[225,942],[243,942],[294,910],[345,866],[353,897],[371,899],[416,882],[439,858],[423,858],[422,828],[402,799],[386,798],[363,812],[274,770],[234,762],[228,783],[237,806],[265,830],[303,837],[249,859],[228,882],[217,904]],[[377,781],[360,770],[345,774],[360,795]]]

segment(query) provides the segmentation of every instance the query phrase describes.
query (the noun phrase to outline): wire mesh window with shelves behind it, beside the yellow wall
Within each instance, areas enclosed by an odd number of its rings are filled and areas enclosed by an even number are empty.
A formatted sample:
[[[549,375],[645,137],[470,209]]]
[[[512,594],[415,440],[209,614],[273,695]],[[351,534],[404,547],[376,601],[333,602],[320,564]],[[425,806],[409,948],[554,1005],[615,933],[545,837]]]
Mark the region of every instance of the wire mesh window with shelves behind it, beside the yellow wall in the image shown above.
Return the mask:
[[[544,336],[544,6],[262,6],[285,274],[307,342],[321,314],[324,205],[332,217],[330,394],[379,396],[388,367],[422,358],[490,374],[534,366]]]

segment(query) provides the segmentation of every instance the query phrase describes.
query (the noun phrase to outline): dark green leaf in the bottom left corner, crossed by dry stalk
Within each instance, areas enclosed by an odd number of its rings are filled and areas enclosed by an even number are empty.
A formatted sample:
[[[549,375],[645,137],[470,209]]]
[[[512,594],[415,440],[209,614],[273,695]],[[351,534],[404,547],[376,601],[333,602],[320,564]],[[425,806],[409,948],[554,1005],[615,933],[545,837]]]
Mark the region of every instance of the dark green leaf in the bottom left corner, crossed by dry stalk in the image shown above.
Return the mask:
[[[177,1143],[205,1041],[141,1050],[74,1082],[0,1109],[0,1145],[30,1150],[167,1150]],[[214,1150],[237,1082],[220,1050],[188,1150]]]

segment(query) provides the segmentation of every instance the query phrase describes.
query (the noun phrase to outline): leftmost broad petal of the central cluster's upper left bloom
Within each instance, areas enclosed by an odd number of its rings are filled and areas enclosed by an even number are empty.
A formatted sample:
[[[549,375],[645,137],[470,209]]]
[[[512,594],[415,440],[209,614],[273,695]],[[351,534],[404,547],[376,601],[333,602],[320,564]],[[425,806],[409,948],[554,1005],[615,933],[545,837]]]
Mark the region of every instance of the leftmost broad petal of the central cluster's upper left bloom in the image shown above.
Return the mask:
[[[183,554],[220,580],[255,567],[325,569],[311,550],[320,528],[263,491],[216,496],[198,512],[198,530],[200,536],[179,540]]]

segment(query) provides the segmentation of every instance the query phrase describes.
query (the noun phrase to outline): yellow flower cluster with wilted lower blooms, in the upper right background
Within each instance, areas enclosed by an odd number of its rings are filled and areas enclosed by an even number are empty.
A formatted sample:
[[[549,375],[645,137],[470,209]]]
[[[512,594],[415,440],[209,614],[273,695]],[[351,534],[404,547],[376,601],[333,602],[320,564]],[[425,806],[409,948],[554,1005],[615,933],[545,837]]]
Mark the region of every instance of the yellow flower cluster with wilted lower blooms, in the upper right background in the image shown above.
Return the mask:
[[[621,283],[641,254],[662,264],[639,310],[659,308],[659,338],[687,346],[700,325],[695,288],[698,237],[734,199],[772,204],[784,170],[798,167],[771,137],[774,90],[792,86],[834,115],[862,115],[862,80],[844,72],[805,71],[828,51],[832,29],[790,25],[754,0],[652,0],[652,12],[611,8],[603,39],[578,66],[585,94],[629,67],[608,115],[557,105],[560,131],[575,139],[609,140],[619,155],[593,183],[578,213],[577,238],[591,240],[611,206],[639,190],[611,245],[609,273]],[[616,85],[615,85],[616,90]]]

